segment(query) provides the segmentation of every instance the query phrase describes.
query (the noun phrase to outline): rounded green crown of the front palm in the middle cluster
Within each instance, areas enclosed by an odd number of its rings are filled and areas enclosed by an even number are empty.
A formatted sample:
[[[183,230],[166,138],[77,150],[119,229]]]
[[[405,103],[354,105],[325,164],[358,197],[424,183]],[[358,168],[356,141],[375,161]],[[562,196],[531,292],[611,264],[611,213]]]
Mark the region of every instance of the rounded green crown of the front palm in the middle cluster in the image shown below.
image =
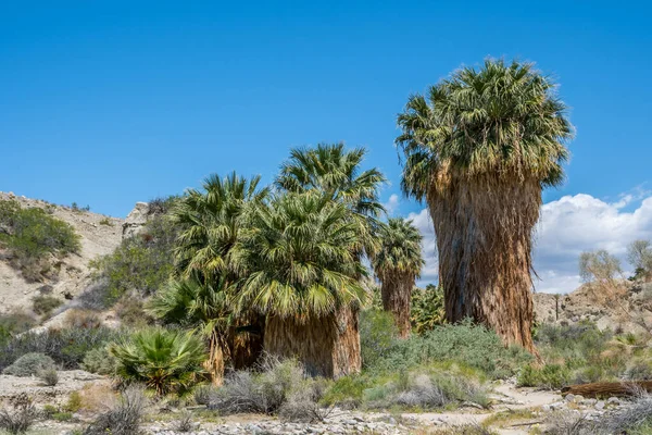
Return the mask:
[[[298,321],[362,302],[358,225],[351,211],[315,191],[285,194],[251,215],[234,247],[244,278],[240,306]]]

